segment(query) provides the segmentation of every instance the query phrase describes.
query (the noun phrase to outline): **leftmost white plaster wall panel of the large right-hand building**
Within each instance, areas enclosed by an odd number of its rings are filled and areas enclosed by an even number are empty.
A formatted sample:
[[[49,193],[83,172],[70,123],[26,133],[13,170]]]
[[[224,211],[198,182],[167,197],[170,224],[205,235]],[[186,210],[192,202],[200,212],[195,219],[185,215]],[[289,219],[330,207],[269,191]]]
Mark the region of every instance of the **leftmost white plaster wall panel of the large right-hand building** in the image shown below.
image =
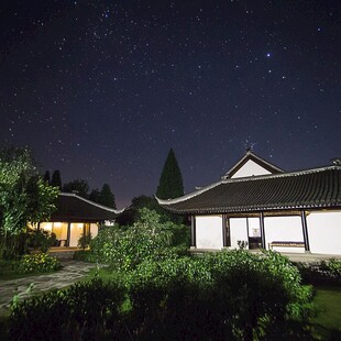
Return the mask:
[[[196,217],[197,249],[222,249],[222,217]]]

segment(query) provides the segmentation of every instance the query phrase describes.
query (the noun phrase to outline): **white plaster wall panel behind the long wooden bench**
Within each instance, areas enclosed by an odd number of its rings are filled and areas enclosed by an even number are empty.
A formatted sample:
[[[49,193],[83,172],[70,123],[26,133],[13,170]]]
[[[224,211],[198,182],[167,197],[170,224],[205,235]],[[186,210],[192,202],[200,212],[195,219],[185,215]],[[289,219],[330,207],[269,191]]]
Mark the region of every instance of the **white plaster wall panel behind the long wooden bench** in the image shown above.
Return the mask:
[[[265,217],[265,248],[268,250],[268,244],[276,242],[304,242],[304,232],[301,219],[298,216],[290,217]],[[274,248],[279,252],[304,253],[305,248]]]

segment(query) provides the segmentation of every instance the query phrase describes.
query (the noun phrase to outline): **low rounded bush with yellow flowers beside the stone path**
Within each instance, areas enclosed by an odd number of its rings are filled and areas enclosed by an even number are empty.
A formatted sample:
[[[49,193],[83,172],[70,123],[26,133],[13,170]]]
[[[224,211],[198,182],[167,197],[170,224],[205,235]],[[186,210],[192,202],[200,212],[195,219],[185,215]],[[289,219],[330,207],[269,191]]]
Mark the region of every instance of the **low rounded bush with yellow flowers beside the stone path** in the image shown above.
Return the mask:
[[[44,273],[58,270],[59,261],[48,253],[34,253],[24,255],[19,262],[19,272],[21,273]]]

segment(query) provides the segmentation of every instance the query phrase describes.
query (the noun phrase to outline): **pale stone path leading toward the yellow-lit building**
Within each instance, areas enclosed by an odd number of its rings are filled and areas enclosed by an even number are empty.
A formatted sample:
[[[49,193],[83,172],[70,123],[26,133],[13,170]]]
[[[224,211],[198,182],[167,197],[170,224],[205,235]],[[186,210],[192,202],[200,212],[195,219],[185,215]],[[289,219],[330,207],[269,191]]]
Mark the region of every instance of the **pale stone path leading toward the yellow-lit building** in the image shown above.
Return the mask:
[[[14,293],[18,293],[22,300],[42,292],[59,289],[78,282],[96,267],[94,263],[80,261],[61,260],[61,263],[63,268],[53,274],[0,280],[0,315],[9,311]]]

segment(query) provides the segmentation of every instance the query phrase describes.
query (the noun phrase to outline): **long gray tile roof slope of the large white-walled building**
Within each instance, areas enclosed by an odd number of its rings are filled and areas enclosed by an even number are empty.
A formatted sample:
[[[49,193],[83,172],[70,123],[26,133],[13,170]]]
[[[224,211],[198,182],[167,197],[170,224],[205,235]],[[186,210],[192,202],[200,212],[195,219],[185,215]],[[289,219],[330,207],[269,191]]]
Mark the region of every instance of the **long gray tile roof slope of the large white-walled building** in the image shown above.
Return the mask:
[[[341,167],[223,179],[182,198],[158,202],[175,213],[341,208]]]

